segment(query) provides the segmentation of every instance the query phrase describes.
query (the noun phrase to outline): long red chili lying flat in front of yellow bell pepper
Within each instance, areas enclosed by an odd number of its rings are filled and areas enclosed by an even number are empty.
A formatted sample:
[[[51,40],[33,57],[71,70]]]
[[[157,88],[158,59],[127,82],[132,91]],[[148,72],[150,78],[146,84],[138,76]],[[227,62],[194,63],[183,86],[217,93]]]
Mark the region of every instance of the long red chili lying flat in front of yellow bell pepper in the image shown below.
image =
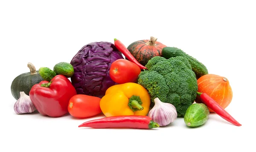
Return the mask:
[[[79,127],[151,129],[159,127],[159,124],[148,116],[122,115],[87,121],[80,124]]]

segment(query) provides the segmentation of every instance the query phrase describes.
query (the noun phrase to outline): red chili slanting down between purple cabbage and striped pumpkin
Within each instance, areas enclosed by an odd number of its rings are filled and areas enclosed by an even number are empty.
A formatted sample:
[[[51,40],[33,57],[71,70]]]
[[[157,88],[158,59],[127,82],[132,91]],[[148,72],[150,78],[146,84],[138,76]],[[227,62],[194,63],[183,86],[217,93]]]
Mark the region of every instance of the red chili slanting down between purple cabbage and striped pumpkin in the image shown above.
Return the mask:
[[[124,54],[124,56],[131,62],[135,63],[136,65],[138,65],[140,67],[141,70],[143,69],[147,69],[146,67],[144,67],[143,65],[140,64],[140,62],[137,61],[137,59],[135,59],[135,57],[131,54],[131,52],[125,47],[124,44],[122,44],[122,42],[118,39],[114,39],[114,44],[117,48],[118,51],[120,51],[121,53]]]

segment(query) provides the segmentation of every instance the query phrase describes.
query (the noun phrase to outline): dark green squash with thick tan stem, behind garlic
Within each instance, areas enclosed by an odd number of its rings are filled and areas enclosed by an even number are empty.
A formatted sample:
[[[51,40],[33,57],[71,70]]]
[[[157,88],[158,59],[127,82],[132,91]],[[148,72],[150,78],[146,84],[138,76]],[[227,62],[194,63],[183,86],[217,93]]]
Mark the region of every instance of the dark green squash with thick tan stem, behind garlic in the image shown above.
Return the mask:
[[[12,81],[11,92],[16,100],[20,98],[20,92],[23,91],[26,95],[29,95],[33,85],[43,81],[43,78],[32,63],[29,62],[27,66],[30,72],[20,74]]]

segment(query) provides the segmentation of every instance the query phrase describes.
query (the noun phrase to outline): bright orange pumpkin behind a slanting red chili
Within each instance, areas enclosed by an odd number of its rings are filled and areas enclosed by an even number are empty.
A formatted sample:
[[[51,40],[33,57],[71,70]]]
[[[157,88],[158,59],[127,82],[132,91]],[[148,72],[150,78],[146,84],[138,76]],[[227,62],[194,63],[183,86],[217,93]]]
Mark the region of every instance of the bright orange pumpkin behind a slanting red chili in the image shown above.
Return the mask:
[[[230,104],[233,92],[227,78],[215,74],[201,76],[198,80],[198,92],[206,93],[214,99],[224,109]],[[199,96],[195,99],[196,103],[202,103]],[[209,111],[213,111],[208,107]]]

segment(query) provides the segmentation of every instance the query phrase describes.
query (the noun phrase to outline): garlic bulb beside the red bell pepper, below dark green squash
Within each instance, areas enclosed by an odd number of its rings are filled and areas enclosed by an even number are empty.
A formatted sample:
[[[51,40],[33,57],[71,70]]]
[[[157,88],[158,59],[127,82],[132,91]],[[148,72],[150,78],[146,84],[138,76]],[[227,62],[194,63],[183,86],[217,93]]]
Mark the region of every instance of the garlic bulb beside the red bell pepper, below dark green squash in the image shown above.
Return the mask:
[[[36,110],[30,97],[24,92],[20,92],[20,98],[14,104],[14,111],[17,114],[33,113]]]

